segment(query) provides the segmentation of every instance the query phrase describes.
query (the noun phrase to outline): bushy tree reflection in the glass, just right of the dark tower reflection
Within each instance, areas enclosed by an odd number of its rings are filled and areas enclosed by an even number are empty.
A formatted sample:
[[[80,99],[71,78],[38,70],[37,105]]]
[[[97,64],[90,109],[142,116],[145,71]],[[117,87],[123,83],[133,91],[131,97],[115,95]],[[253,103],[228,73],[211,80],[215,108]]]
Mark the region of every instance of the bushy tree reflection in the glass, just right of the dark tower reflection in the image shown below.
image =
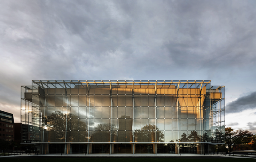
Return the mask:
[[[141,130],[134,130],[134,138],[135,140],[140,138],[150,140],[152,136],[154,137],[155,131],[157,131],[157,140],[159,140],[159,142],[164,142],[163,131],[160,131],[160,129],[154,124],[146,124],[144,127],[141,128]]]

